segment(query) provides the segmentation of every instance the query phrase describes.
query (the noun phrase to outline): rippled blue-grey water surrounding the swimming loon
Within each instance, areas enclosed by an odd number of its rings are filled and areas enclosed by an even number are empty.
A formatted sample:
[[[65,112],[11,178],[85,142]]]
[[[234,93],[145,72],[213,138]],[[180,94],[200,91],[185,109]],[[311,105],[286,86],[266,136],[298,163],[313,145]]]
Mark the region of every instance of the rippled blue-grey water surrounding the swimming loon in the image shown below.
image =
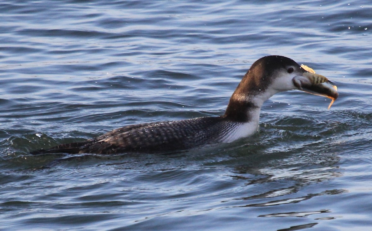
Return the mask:
[[[2,1],[0,229],[372,230],[370,1]],[[171,155],[31,156],[224,113],[284,55],[339,99],[283,92],[260,132]]]

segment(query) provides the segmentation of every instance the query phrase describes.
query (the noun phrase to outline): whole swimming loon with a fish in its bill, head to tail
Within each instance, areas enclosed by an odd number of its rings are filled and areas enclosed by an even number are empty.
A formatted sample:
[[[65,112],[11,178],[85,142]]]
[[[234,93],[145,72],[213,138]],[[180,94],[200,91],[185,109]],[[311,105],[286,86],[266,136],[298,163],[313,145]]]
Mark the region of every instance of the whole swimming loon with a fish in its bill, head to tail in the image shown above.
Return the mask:
[[[229,143],[258,130],[264,101],[278,92],[295,89],[328,97],[332,100],[330,106],[339,96],[337,87],[324,76],[306,71],[292,59],[265,56],[244,75],[222,116],[129,125],[83,142],[31,154],[171,152]]]

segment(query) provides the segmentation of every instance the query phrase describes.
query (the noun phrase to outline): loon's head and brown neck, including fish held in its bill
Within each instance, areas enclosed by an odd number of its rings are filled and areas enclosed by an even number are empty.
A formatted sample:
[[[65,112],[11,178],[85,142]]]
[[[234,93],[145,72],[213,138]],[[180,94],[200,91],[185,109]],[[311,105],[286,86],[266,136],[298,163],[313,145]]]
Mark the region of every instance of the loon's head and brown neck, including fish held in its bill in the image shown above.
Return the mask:
[[[305,70],[290,58],[270,55],[252,64],[232,94],[224,116],[247,121],[251,108],[261,108],[274,94],[295,89],[331,98],[331,104],[338,97],[337,87],[324,76]]]

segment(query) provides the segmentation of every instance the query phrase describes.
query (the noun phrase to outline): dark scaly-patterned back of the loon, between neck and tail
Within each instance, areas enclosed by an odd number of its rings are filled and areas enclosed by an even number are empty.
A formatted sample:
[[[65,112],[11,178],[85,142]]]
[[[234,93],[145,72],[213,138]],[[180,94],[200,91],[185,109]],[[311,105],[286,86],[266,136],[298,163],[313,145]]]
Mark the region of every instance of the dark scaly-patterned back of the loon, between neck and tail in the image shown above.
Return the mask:
[[[240,124],[222,117],[202,117],[129,125],[88,140],[80,153],[185,150],[221,142]]]

